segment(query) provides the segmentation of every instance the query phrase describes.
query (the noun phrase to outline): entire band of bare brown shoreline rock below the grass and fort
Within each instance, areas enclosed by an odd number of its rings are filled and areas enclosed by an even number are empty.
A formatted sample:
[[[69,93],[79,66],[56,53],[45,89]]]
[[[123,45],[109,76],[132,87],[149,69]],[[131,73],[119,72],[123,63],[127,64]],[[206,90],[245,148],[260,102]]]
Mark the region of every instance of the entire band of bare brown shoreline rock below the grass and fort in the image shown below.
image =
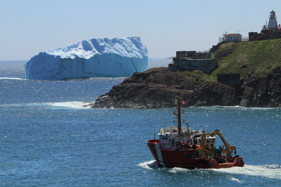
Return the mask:
[[[281,107],[281,71],[279,69],[275,74],[262,78],[248,75],[244,85],[231,87],[215,81],[195,86],[187,75],[164,67],[152,68],[126,78],[88,105],[91,108],[166,108],[174,107],[172,102],[178,94],[187,101],[185,107]]]

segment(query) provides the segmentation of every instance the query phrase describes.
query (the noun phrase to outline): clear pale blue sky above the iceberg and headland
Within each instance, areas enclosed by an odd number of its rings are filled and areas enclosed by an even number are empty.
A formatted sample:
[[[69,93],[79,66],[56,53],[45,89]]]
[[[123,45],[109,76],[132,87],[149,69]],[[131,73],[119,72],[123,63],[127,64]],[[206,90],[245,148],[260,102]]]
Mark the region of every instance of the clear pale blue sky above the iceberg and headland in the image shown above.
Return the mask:
[[[0,60],[29,60],[43,50],[96,37],[139,35],[149,58],[207,50],[222,33],[260,32],[281,1],[0,0]]]

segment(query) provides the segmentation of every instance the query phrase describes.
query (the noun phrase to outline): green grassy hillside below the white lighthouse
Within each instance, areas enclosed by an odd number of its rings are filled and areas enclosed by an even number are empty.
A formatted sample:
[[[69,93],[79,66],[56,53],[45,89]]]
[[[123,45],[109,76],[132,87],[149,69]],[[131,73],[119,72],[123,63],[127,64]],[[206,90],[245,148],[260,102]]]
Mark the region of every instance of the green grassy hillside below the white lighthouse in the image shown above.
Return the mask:
[[[259,77],[273,73],[281,66],[281,39],[227,42],[215,52],[219,67],[211,73],[216,80],[217,73],[241,73],[246,77],[256,73]]]

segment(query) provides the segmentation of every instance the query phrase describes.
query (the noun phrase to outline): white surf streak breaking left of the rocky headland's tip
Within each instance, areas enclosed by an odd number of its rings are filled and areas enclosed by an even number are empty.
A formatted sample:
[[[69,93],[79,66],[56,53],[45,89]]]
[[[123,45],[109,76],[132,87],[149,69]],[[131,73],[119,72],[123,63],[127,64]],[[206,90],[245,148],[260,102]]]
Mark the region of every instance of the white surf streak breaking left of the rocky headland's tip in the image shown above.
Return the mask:
[[[45,109],[89,109],[84,102],[49,102],[49,103],[30,103],[30,104],[4,104],[1,107],[40,107]]]

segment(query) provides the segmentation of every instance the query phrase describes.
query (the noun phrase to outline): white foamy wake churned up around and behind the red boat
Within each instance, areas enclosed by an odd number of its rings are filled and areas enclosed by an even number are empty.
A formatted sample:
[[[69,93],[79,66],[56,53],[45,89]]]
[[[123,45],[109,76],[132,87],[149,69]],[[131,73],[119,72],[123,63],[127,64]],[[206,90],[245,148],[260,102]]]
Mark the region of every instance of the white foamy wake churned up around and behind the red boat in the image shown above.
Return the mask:
[[[200,170],[203,172],[222,172],[226,174],[232,174],[233,175],[248,175],[248,176],[258,176],[258,177],[264,177],[264,178],[272,178],[272,179],[281,179],[281,166],[277,164],[272,165],[247,165],[245,164],[244,167],[231,167],[231,168],[222,168],[222,169],[188,169],[188,168],[180,168],[180,167],[159,167],[156,164],[156,161],[148,161],[144,163],[140,163],[139,166],[141,166],[144,169],[169,169],[169,172],[171,173],[186,173],[190,171],[196,171]],[[239,179],[236,179],[234,177],[231,177],[230,180],[236,181],[236,182],[243,182]]]

